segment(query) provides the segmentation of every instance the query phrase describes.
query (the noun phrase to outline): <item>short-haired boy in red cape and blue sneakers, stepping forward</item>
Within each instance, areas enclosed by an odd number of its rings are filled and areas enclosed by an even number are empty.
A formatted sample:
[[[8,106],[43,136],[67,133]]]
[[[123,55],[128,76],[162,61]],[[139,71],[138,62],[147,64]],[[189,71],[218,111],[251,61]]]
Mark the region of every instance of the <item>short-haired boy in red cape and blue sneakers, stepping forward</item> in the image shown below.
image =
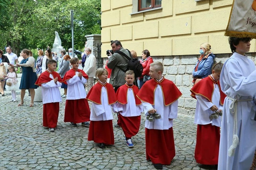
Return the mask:
[[[122,127],[129,148],[133,147],[131,137],[139,132],[141,112],[143,112],[141,101],[136,96],[139,88],[133,85],[134,79],[134,72],[132,70],[126,71],[126,83],[120,86],[116,92],[119,111],[117,124]]]

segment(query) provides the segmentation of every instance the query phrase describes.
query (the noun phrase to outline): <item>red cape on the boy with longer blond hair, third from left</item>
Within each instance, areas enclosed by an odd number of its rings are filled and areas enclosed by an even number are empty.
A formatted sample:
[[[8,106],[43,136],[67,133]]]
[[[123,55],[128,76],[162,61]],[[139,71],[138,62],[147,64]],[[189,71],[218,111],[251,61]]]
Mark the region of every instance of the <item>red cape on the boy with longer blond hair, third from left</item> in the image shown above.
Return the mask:
[[[115,102],[117,102],[116,93],[113,86],[109,83],[103,85],[100,82],[96,83],[93,87],[91,87],[90,91],[86,96],[86,99],[94,103],[101,104],[101,88],[103,86],[107,90],[109,104],[114,104]]]

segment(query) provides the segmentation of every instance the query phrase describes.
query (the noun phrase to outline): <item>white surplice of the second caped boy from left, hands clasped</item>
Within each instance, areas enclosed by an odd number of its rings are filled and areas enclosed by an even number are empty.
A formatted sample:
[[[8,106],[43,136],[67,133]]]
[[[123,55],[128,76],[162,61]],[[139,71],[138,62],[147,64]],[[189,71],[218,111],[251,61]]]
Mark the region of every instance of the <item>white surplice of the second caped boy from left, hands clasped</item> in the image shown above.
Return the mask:
[[[67,100],[77,100],[77,99],[85,99],[86,92],[84,89],[84,84],[86,83],[86,79],[82,77],[80,79],[78,77],[79,72],[75,72],[74,77],[67,80],[68,89],[67,89]]]

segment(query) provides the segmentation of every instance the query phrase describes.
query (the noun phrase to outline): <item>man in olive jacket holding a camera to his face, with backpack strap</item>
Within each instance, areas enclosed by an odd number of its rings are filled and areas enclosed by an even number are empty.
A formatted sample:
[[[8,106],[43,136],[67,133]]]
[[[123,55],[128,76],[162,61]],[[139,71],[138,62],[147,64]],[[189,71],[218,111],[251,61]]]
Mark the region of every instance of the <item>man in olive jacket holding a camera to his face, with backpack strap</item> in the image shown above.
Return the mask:
[[[113,85],[116,92],[120,86],[126,83],[124,79],[125,77],[124,70],[126,70],[128,66],[127,59],[121,54],[116,53],[116,51],[117,50],[122,51],[130,58],[132,58],[132,56],[130,55],[128,50],[123,48],[122,44],[118,40],[114,40],[114,41],[111,40],[111,47],[112,47],[112,50],[107,51],[109,52],[109,55],[110,55],[107,66],[108,68],[112,69],[109,83]]]

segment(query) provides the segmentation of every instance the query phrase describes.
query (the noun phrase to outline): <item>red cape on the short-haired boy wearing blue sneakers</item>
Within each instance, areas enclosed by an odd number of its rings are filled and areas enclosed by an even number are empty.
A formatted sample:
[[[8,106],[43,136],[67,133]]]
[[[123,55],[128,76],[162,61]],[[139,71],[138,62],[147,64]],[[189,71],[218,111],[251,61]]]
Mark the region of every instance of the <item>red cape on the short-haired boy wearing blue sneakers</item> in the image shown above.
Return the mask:
[[[133,95],[135,97],[136,105],[140,105],[141,101],[136,96],[139,92],[139,88],[137,86],[134,86],[134,85],[128,86],[128,84],[126,84],[126,83],[123,86],[120,86],[117,89],[117,92],[116,92],[117,101],[121,104],[127,104],[127,91],[129,90],[129,88],[131,88],[132,91],[133,91]]]

